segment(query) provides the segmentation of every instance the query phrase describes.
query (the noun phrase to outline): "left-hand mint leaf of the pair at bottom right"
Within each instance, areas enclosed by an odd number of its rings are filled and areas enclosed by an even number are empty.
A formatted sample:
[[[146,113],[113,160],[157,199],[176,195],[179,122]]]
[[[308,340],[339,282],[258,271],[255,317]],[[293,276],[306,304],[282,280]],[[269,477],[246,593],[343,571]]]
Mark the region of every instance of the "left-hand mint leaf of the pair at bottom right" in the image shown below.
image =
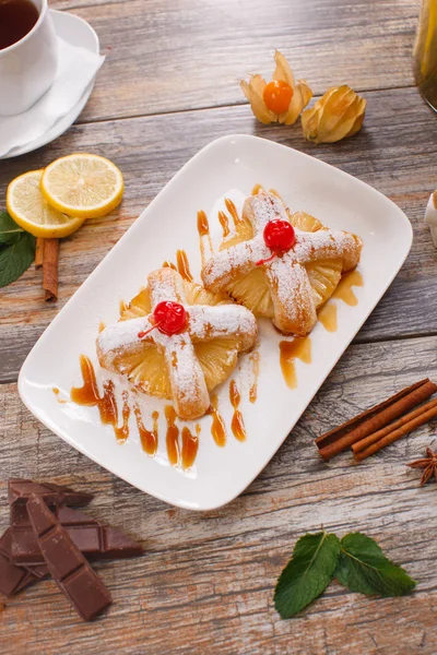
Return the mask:
[[[274,606],[281,618],[288,619],[320,596],[332,579],[339,561],[340,540],[320,532],[296,541],[274,591]]]

